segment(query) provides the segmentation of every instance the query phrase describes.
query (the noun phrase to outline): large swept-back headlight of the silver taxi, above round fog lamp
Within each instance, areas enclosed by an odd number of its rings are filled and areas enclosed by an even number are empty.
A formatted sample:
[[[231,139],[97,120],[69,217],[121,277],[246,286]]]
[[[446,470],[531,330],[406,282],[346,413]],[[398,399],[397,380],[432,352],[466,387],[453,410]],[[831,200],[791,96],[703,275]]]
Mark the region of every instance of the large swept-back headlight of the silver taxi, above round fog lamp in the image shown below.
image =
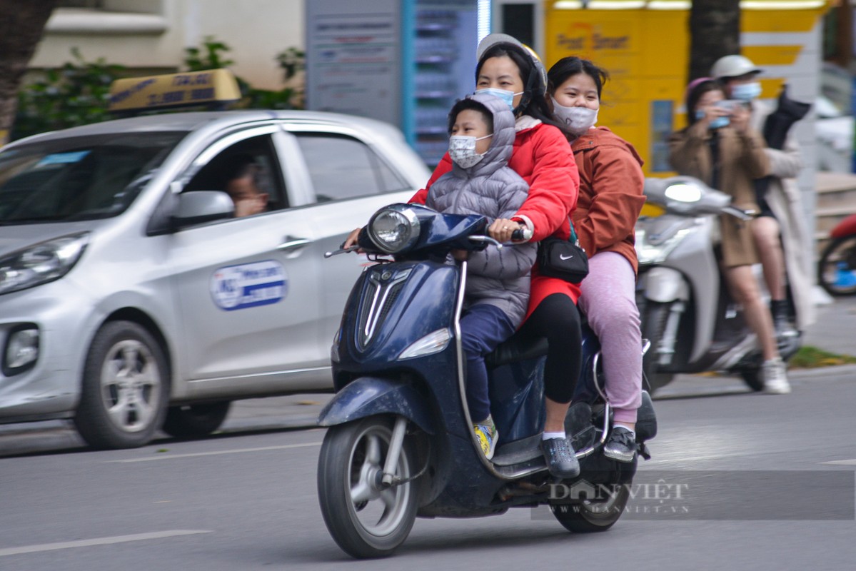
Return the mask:
[[[89,233],[40,242],[0,258],[0,294],[33,288],[65,276],[89,243]]]

